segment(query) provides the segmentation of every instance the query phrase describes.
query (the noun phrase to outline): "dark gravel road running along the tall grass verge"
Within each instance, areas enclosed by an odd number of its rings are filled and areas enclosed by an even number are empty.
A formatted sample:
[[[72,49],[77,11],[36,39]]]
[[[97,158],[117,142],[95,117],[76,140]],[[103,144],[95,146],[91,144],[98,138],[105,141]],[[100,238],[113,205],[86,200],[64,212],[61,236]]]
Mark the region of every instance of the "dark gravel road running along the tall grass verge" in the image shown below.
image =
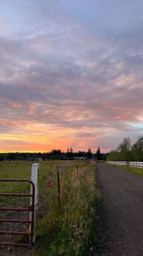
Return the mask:
[[[96,255],[143,256],[143,178],[97,163],[100,244]]]

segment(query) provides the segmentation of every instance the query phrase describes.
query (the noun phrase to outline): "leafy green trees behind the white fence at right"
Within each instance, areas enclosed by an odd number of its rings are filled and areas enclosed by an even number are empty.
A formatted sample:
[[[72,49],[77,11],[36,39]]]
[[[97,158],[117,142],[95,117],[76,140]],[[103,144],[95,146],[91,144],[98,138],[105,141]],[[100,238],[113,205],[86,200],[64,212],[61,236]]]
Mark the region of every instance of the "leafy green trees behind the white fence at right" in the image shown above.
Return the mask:
[[[137,141],[132,144],[129,137],[125,137],[123,142],[116,149],[110,151],[108,161],[143,161],[143,136],[138,136]]]

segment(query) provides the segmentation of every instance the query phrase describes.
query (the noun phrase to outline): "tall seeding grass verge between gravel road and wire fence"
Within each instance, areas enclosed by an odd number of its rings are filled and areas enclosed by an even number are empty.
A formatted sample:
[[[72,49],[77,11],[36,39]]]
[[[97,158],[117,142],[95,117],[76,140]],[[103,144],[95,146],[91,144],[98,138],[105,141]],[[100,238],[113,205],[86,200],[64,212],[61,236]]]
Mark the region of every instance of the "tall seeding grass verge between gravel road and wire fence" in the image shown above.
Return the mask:
[[[40,222],[31,255],[91,255],[96,245],[99,199],[95,163],[80,168],[66,167],[60,174],[61,209],[57,186],[52,188],[49,212]]]

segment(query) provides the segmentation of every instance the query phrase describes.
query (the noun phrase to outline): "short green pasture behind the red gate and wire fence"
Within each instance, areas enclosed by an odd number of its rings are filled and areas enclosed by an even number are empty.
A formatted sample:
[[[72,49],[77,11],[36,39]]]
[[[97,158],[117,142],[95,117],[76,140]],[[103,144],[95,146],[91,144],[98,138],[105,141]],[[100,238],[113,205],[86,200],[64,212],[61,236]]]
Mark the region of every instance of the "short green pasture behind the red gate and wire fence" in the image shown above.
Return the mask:
[[[61,161],[59,161],[61,162]],[[46,180],[49,175],[54,174],[54,169],[56,169],[59,164],[58,161],[55,162],[42,162],[40,163],[39,169],[39,192],[42,193],[43,187],[46,188]],[[0,178],[1,179],[31,179],[31,165],[29,162],[3,162],[0,163]],[[29,182],[0,182],[0,192],[1,193],[30,193],[31,185]],[[45,189],[46,192],[46,189]],[[18,204],[17,204],[18,203]],[[26,207],[30,203],[28,197],[0,197],[1,207]]]

